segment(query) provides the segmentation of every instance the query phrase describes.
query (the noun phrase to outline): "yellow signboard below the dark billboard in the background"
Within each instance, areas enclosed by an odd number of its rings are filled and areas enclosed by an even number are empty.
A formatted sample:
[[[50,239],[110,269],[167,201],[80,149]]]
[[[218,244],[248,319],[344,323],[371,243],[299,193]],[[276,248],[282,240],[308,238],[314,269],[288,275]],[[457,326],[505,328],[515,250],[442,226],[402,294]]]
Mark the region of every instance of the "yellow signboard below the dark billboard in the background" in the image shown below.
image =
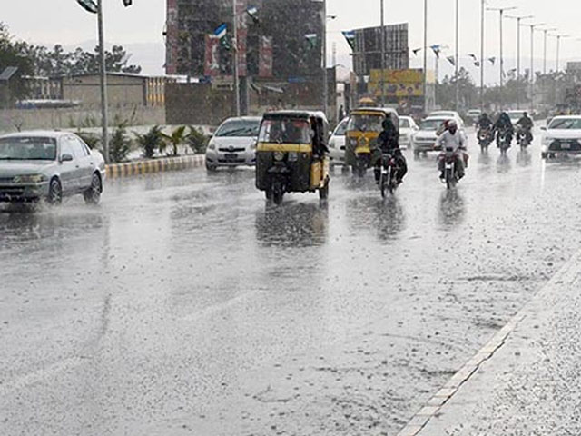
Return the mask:
[[[422,70],[384,70],[383,84],[388,97],[421,97],[424,94],[424,73]],[[371,70],[369,92],[381,95],[381,70]]]

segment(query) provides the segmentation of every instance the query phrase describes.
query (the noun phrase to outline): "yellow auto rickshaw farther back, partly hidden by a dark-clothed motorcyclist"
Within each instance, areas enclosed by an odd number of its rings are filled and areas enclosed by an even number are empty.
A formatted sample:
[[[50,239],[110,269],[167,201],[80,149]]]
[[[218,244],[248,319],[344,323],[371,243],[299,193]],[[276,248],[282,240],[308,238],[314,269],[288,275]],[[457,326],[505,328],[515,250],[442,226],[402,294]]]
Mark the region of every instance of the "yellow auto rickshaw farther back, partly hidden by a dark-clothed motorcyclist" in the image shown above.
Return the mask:
[[[395,109],[361,107],[351,111],[347,125],[345,162],[353,168],[353,173],[362,177],[373,164],[371,154],[383,130],[383,120],[387,117],[399,130],[399,116]]]

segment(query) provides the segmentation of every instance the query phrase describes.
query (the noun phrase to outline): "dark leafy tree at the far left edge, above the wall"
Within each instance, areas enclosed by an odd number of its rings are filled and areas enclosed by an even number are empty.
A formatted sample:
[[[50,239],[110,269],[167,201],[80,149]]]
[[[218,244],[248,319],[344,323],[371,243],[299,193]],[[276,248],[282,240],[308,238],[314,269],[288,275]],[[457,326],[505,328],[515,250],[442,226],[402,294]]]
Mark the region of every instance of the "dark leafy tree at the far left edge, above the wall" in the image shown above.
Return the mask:
[[[25,45],[13,41],[8,27],[0,22],[0,73],[8,66],[15,66],[18,70],[7,84],[6,97],[0,99],[0,105],[4,107],[12,105],[15,100],[26,98],[28,89],[23,77],[34,74],[34,64],[26,55]]]

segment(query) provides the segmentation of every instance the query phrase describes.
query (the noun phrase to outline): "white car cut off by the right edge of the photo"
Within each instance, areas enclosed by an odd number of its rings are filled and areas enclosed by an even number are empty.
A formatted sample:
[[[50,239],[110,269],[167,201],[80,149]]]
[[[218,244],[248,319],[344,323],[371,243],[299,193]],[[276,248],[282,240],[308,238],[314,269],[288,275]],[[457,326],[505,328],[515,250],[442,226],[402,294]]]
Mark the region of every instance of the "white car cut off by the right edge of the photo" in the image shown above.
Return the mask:
[[[581,154],[581,115],[556,116],[543,130],[543,159],[557,154]]]

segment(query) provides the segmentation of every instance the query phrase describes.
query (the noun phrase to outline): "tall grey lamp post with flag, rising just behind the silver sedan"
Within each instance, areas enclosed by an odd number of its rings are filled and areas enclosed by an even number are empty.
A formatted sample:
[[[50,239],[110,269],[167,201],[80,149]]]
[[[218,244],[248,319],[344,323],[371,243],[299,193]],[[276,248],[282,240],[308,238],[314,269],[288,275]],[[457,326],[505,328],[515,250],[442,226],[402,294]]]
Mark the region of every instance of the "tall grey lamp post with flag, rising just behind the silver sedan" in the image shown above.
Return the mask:
[[[96,2],[96,3],[95,3]],[[103,0],[77,0],[77,3],[85,11],[97,15],[97,27],[99,34],[99,70],[100,70],[100,88],[101,88],[101,127],[103,157],[106,163],[109,163],[109,120],[107,114],[107,69],[105,64],[105,36],[103,25]],[[133,0],[123,0],[125,7],[131,6]]]

